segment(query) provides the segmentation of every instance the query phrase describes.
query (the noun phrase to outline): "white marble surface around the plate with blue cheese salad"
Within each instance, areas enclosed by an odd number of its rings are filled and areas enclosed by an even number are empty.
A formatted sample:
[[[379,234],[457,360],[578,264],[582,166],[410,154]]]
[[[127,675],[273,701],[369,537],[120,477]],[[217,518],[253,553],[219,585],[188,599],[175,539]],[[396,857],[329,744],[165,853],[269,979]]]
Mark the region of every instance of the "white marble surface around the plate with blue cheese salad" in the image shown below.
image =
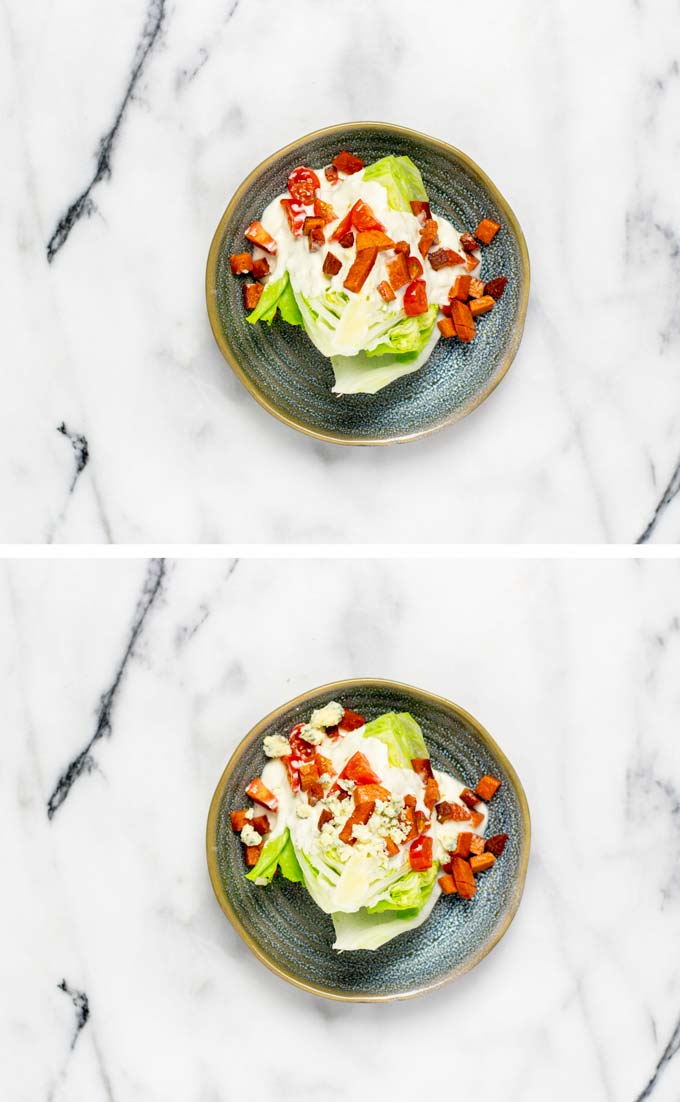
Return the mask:
[[[679,581],[668,562],[3,564],[0,1096],[677,1102]],[[533,822],[498,948],[385,1006],[270,974],[204,856],[248,727],[367,674],[476,714]]]

